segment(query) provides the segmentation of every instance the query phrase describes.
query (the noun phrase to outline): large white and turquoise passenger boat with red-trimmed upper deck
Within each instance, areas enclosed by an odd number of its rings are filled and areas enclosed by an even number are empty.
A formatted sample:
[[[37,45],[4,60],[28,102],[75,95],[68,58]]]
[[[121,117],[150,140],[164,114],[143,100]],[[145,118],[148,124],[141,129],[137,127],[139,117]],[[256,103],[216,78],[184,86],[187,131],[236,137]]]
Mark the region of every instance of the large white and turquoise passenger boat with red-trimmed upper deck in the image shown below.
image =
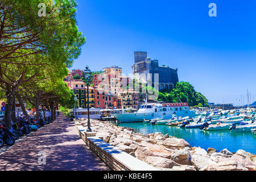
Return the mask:
[[[134,113],[114,114],[119,122],[142,122],[154,118],[171,119],[172,115],[177,117],[195,117],[195,111],[189,110],[187,103],[151,103],[141,105]]]

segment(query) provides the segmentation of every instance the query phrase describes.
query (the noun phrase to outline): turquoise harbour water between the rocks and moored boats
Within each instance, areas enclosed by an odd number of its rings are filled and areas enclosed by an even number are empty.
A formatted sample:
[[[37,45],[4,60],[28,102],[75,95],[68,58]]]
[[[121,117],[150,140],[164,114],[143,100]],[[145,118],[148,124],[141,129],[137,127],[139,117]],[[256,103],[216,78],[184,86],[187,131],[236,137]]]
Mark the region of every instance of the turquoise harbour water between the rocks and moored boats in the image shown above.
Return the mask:
[[[149,134],[160,132],[177,138],[183,138],[191,147],[215,148],[217,152],[228,148],[230,152],[239,149],[256,154],[256,135],[251,132],[238,133],[229,130],[202,131],[200,129],[185,129],[177,126],[150,125],[143,122],[120,123],[119,126],[131,127],[136,133]]]

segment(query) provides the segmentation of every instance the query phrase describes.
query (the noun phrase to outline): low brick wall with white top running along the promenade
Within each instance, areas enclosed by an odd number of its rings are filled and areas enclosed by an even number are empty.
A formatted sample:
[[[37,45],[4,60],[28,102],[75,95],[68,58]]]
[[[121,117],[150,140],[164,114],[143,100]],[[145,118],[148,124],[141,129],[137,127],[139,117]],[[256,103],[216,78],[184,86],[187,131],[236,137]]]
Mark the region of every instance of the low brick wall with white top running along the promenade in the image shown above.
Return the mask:
[[[86,132],[81,123],[75,121],[77,131],[89,148],[114,171],[156,171],[157,169],[119,150],[119,148],[96,137],[96,133]]]

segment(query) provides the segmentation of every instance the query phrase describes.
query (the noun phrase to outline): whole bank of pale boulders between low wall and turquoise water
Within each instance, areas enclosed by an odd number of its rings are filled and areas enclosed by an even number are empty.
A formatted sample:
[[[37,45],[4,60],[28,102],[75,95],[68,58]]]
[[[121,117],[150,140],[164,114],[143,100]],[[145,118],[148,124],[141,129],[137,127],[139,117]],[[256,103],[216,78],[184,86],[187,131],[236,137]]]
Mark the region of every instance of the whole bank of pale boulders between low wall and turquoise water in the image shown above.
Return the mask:
[[[76,120],[87,127],[87,120]],[[97,137],[112,146],[158,168],[168,171],[255,171],[256,158],[244,150],[236,153],[226,148],[216,152],[214,148],[204,150],[191,147],[184,139],[168,134],[134,133],[133,129],[114,125],[108,121],[90,119],[91,129]]]

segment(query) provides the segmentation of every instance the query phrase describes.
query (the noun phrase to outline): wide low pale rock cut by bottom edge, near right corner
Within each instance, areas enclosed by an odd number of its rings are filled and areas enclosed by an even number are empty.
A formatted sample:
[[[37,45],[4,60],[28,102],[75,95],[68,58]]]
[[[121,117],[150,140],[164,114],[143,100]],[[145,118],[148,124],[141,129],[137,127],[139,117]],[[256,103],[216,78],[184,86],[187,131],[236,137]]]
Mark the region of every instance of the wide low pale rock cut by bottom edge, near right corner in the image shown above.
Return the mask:
[[[243,167],[236,160],[225,160],[215,165],[208,166],[208,171],[248,171],[246,167]]]

